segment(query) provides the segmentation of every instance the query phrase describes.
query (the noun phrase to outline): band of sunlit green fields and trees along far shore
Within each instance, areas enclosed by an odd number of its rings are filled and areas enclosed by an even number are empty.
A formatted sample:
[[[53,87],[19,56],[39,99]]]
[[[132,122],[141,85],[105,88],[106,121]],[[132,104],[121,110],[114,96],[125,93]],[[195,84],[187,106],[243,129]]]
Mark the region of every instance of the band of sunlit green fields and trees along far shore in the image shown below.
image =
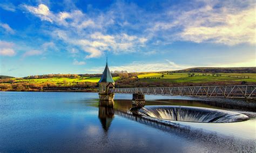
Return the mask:
[[[256,73],[136,73],[114,75],[117,88],[255,84]],[[5,78],[5,77],[4,77]],[[49,74],[0,79],[0,91],[97,91],[100,74]]]

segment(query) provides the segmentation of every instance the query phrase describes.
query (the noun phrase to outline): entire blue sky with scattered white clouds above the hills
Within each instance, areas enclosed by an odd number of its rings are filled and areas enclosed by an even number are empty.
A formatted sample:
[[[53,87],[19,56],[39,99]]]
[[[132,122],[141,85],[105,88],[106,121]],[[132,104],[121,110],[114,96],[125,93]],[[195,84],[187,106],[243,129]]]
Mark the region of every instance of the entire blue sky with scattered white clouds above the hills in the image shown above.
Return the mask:
[[[255,1],[0,1],[0,75],[255,64]]]

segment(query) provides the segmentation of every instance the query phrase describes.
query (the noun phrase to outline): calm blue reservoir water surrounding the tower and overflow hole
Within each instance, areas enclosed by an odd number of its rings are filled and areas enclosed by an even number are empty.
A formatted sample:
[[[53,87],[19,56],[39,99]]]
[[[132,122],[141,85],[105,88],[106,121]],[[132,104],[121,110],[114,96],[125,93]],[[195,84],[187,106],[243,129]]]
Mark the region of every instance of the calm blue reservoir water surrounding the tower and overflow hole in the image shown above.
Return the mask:
[[[173,121],[171,126],[166,126],[131,115],[131,95],[116,95],[113,109],[99,107],[97,93],[1,92],[0,96],[0,152],[255,150],[254,112],[233,110],[251,117],[243,122]],[[163,100],[171,98],[178,100]],[[201,102],[179,99],[146,96],[149,100],[146,105],[213,108]]]

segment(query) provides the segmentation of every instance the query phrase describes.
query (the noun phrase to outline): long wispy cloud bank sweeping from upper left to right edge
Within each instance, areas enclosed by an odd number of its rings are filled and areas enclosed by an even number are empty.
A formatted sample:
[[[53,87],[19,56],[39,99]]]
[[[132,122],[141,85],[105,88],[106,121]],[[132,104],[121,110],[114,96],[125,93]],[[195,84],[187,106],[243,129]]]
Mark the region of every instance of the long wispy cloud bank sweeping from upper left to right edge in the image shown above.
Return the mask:
[[[63,41],[66,48],[83,50],[85,58],[97,58],[105,51],[117,54],[143,51],[150,55],[156,48],[142,48],[150,43],[163,46],[177,40],[255,44],[254,3],[243,7],[224,3],[203,1],[199,6],[196,1],[186,7],[166,6],[159,12],[146,12],[122,2],[112,4],[105,11],[86,13],[77,8],[53,12],[45,4],[23,7],[41,20],[51,22],[52,26],[47,26],[45,31],[53,39]]]

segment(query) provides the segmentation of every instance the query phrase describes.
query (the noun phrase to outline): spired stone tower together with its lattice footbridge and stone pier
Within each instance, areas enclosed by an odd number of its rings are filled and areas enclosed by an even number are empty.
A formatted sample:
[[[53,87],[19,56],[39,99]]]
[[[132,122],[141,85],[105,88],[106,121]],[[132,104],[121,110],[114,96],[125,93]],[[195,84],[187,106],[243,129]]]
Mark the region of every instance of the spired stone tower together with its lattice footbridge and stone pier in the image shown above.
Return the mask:
[[[98,83],[100,100],[113,101],[115,93],[132,94],[132,105],[134,107],[145,105],[145,95],[256,99],[256,85],[114,88],[115,82],[112,79],[107,62]],[[112,102],[107,102],[107,104],[113,105]]]

